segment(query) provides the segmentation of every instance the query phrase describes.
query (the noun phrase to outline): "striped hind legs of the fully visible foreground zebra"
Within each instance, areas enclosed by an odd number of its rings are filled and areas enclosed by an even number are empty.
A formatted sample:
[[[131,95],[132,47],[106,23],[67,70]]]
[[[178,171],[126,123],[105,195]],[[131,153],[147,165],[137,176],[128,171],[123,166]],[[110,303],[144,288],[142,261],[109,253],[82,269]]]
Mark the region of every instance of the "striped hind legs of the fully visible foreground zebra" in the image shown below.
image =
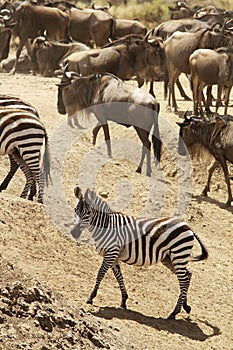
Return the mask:
[[[185,268],[185,271],[184,269],[182,269],[182,272],[176,271],[176,275],[180,284],[180,295],[175,309],[168,317],[169,320],[174,320],[176,315],[180,313],[182,307],[187,313],[191,311],[191,307],[187,304],[187,292],[192,274]]]

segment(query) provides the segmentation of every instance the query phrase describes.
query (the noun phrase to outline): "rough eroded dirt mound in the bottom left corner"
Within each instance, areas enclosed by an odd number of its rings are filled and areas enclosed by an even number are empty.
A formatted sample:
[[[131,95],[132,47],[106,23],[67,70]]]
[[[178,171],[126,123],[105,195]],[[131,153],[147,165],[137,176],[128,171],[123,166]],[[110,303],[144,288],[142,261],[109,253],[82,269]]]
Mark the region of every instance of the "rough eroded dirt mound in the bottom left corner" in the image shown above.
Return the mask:
[[[0,258],[0,349],[119,349],[114,331]]]

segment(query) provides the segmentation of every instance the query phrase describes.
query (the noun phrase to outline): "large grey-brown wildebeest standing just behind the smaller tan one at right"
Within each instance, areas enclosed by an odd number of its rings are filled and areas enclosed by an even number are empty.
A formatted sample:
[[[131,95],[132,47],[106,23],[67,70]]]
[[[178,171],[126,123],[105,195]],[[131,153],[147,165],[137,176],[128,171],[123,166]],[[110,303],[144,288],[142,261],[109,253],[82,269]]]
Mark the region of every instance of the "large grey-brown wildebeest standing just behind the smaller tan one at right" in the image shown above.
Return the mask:
[[[200,29],[195,33],[175,32],[164,42],[164,50],[168,72],[168,108],[177,111],[175,98],[175,83],[181,73],[190,74],[189,57],[197,49],[215,49],[220,46],[228,46],[229,40],[225,38],[224,29],[211,28]]]

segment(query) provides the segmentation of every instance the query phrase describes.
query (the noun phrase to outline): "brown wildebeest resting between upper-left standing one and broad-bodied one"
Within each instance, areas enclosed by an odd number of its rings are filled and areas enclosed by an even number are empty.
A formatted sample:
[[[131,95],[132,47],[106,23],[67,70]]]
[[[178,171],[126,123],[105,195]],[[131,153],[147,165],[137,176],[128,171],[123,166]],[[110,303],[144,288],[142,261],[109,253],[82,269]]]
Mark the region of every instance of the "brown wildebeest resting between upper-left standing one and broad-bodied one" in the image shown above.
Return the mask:
[[[62,60],[71,53],[89,49],[82,43],[61,43],[48,40],[45,36],[39,36],[32,44],[32,70],[43,76],[51,76],[55,70],[60,68]]]

